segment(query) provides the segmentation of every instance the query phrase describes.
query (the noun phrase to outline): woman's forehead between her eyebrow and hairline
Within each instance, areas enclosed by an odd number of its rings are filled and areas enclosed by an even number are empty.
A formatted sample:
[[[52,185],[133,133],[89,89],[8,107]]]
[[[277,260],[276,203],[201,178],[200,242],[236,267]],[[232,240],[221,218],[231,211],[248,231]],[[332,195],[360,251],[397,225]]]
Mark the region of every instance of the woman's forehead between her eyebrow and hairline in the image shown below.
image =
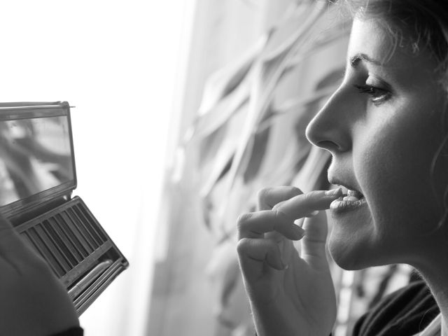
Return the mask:
[[[394,39],[391,31],[374,19],[353,20],[348,57],[351,59],[356,55],[365,55],[374,61],[372,64],[391,71],[418,68],[434,74],[437,66],[426,50],[412,52],[409,45],[402,45],[400,38]]]

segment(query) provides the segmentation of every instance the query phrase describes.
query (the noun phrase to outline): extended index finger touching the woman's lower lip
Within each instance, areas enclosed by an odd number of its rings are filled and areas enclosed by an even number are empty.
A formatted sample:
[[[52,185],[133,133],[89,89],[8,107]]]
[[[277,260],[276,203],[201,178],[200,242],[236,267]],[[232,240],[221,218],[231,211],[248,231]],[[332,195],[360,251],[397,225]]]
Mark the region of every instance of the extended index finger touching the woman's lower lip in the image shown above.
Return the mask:
[[[331,202],[341,196],[341,188],[326,191],[315,190],[276,204],[272,210],[281,211],[288,218],[295,220],[307,216],[313,211],[328,209]]]

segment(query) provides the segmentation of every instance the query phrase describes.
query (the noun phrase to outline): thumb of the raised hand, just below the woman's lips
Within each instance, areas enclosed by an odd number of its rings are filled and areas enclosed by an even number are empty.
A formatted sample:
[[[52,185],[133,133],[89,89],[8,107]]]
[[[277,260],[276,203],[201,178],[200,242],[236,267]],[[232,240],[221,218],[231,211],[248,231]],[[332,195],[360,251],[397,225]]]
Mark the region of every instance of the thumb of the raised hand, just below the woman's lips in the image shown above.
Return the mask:
[[[303,228],[305,236],[302,239],[301,257],[316,269],[327,270],[328,260],[325,242],[328,227],[325,211],[311,218],[305,218]]]

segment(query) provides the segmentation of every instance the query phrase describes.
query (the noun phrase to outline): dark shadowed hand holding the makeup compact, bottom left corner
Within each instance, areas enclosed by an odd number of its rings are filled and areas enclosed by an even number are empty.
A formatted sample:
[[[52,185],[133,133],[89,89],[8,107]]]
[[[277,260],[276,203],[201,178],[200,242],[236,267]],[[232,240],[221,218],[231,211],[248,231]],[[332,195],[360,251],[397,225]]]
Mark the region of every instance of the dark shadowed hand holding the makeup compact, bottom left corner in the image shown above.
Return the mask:
[[[78,325],[62,283],[0,214],[0,335],[48,336]]]

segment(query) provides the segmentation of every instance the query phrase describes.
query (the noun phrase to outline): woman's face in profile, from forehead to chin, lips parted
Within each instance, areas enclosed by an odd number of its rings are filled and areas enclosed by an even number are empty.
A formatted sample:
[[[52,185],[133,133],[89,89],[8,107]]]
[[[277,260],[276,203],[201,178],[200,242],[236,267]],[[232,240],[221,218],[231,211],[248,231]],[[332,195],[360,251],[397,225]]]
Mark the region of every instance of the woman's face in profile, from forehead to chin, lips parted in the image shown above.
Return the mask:
[[[307,127],[332,154],[330,183],[353,190],[330,209],[330,252],[346,269],[416,266],[437,246],[430,172],[445,94],[429,52],[395,48],[388,36],[374,20],[354,21],[344,80]]]

